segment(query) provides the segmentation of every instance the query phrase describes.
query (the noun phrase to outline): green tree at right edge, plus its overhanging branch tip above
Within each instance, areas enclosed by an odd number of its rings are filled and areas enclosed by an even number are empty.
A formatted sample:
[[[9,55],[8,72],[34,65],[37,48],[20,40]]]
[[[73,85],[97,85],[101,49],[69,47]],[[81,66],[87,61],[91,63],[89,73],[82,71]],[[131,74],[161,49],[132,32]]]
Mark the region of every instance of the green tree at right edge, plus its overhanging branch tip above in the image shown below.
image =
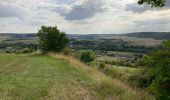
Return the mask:
[[[151,7],[163,7],[166,0],[139,0]],[[170,40],[164,41],[161,50],[147,59],[148,73],[154,76],[149,88],[158,100],[170,100]]]

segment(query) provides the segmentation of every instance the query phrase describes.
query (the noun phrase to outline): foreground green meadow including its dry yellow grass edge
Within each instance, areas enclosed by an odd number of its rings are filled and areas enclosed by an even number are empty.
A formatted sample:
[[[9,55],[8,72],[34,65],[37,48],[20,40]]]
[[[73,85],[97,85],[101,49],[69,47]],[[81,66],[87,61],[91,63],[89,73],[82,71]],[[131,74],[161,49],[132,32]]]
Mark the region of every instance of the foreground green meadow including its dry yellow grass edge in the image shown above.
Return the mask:
[[[60,54],[0,54],[1,100],[152,100],[95,68]]]

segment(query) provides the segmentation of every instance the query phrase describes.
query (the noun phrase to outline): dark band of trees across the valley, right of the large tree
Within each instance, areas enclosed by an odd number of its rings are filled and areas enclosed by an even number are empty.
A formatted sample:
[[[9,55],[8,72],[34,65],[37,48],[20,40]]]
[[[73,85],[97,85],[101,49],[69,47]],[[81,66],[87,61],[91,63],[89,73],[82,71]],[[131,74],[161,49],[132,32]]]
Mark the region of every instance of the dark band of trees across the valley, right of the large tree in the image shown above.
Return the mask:
[[[122,51],[148,53],[156,48],[154,46],[134,45],[122,39],[96,39],[96,40],[72,40],[70,46],[74,49],[91,49],[103,51]]]

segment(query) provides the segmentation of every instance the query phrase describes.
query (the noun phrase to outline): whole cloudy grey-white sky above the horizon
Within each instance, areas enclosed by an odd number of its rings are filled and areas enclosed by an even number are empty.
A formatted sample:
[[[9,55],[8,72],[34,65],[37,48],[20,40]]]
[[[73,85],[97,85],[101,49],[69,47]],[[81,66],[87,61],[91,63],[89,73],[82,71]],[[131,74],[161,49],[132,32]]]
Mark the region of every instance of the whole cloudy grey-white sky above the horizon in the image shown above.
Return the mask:
[[[0,0],[0,33],[36,33],[42,25],[67,34],[170,31],[170,0],[163,8],[137,0]]]

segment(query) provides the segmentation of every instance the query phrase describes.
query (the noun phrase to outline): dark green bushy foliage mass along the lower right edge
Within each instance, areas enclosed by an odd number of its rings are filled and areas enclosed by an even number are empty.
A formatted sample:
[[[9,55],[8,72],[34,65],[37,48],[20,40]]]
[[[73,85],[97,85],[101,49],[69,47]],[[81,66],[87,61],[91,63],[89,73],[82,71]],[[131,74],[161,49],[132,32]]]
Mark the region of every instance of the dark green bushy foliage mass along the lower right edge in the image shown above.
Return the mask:
[[[143,76],[147,81],[150,90],[156,95],[159,100],[170,99],[170,41],[163,43],[162,50],[158,50],[145,58],[145,66],[147,70]]]

